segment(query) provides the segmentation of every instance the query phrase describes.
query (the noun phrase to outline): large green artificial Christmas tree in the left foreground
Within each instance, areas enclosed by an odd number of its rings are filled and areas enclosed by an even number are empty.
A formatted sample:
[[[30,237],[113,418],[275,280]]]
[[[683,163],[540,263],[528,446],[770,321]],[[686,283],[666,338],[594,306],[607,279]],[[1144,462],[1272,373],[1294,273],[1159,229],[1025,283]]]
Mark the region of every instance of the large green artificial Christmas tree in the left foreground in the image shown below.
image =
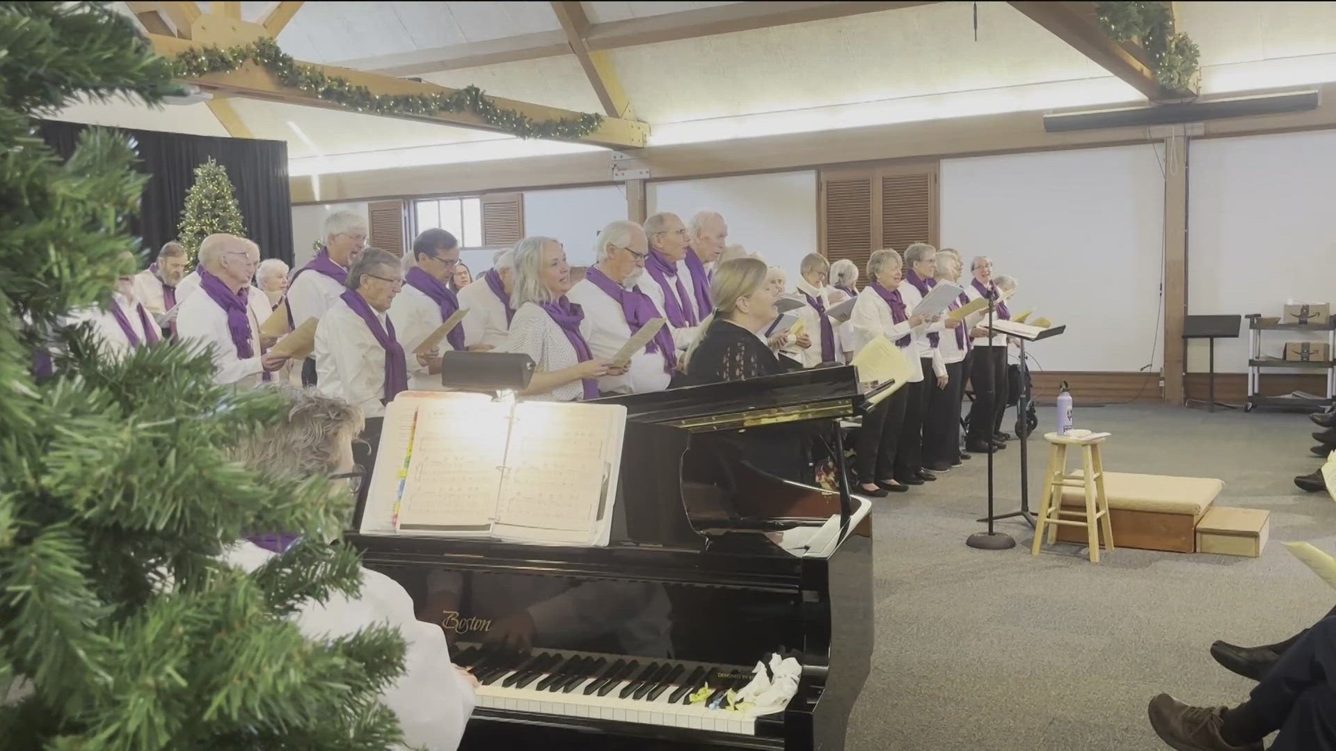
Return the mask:
[[[0,748],[393,746],[378,696],[398,635],[317,643],[286,617],[355,588],[355,553],[319,543],[346,493],[228,461],[282,401],[215,386],[207,354],[170,342],[102,361],[88,329],[60,325],[134,270],[144,178],[127,139],[96,128],[61,164],[33,115],[155,103],[170,64],[104,4],[0,3]],[[219,560],[247,532],[305,541],[247,575]]]

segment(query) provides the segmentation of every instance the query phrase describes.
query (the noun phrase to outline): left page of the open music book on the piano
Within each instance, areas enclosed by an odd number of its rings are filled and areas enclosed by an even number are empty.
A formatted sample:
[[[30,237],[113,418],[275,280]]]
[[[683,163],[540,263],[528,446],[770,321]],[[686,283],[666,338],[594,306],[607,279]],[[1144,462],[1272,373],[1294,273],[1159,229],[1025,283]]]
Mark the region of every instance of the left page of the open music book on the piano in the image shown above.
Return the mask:
[[[442,394],[445,396],[445,394]],[[490,531],[512,405],[458,394],[422,400],[399,531]]]

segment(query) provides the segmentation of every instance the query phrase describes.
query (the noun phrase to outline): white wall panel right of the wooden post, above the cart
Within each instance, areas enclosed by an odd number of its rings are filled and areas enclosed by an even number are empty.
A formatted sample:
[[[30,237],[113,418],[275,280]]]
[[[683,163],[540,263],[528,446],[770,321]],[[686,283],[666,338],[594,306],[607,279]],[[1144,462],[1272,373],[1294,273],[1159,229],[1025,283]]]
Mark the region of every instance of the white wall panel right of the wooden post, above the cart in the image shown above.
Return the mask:
[[[1336,302],[1336,131],[1194,140],[1188,156],[1189,314]],[[1248,367],[1246,337],[1216,342],[1217,371]],[[1271,331],[1263,351],[1285,339],[1316,337]],[[1188,369],[1206,370],[1205,342],[1189,346]]]

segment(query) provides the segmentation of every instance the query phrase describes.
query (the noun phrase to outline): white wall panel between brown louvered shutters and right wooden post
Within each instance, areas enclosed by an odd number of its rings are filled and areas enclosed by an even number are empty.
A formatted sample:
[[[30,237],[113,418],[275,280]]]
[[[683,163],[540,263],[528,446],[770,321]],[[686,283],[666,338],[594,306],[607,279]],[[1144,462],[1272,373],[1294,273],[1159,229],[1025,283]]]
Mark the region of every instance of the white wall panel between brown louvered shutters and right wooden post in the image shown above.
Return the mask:
[[[1066,323],[1045,370],[1160,369],[1164,178],[1150,146],[945,159],[942,246],[1019,282],[1013,313]]]

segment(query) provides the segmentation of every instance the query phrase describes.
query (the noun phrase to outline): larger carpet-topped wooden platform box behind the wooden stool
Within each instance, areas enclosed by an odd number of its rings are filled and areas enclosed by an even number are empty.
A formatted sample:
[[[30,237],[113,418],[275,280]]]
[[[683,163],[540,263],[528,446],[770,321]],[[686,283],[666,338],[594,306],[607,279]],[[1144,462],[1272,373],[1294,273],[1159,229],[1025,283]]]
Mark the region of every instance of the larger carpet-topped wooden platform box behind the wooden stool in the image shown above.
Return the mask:
[[[1225,484],[1212,477],[1106,472],[1104,488],[1116,547],[1190,553],[1197,548],[1197,521]],[[1065,488],[1062,508],[1083,510],[1085,490]],[[1086,531],[1063,524],[1058,540],[1086,543]]]

